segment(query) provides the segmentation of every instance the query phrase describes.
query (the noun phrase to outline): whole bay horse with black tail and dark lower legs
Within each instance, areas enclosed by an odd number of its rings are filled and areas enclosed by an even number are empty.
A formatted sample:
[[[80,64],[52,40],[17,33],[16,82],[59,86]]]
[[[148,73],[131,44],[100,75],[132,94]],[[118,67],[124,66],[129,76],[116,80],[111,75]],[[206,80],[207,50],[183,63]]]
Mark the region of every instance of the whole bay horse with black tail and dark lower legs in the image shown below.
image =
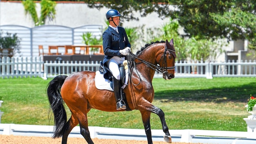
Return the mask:
[[[126,100],[130,110],[141,112],[148,144],[152,144],[150,128],[150,114],[155,113],[160,117],[165,142],[171,143],[169,129],[165,122],[163,110],[154,106],[154,89],[152,79],[155,71],[161,72],[163,78],[174,78],[174,64],[176,53],[174,42],[157,41],[146,44],[137,54],[130,53],[129,83],[124,88]],[[62,144],[67,144],[67,137],[71,130],[80,125],[80,133],[88,144],[93,144],[88,129],[87,113],[91,108],[117,112],[113,91],[99,90],[95,87],[95,72],[82,71],[69,76],[59,75],[53,78],[47,85],[47,95],[50,102],[50,110],[54,114],[54,130],[52,138],[62,136]],[[64,103],[71,111],[71,117],[67,121]]]

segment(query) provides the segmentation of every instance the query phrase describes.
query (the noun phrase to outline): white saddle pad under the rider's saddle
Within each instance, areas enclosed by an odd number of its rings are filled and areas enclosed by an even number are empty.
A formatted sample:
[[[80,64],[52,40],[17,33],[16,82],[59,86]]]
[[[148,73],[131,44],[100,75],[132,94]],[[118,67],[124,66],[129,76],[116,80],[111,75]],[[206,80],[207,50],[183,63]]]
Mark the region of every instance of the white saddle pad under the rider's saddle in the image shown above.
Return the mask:
[[[122,89],[124,89],[128,83],[128,70],[126,70],[125,72],[126,72],[126,79],[125,79],[124,85],[122,86]],[[106,89],[109,91],[114,91],[110,86],[110,82],[108,82],[108,80],[106,80],[103,77],[103,74],[100,74],[100,71],[96,71],[95,86],[97,89]]]

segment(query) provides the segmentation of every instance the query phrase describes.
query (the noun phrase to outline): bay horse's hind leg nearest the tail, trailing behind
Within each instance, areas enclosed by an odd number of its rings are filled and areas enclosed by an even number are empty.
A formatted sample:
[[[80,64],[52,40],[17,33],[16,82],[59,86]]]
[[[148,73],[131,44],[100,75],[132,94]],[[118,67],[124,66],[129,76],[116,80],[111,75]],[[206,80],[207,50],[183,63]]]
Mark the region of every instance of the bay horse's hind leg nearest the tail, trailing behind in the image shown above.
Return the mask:
[[[63,136],[62,136],[62,144],[67,144],[67,136],[72,131],[72,129],[78,125],[78,119],[74,116],[74,114],[71,114],[70,119],[65,123]]]

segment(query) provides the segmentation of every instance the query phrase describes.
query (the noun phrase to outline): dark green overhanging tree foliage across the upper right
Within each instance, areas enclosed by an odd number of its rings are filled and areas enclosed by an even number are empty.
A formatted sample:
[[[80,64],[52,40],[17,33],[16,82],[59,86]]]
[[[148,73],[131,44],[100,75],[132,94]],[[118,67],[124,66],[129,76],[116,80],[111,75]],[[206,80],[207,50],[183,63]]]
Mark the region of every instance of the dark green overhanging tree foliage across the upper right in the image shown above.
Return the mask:
[[[113,8],[126,20],[152,12],[161,18],[178,19],[184,36],[195,39],[247,39],[256,47],[256,0],[84,0],[93,8]],[[154,18],[152,18],[154,19]]]

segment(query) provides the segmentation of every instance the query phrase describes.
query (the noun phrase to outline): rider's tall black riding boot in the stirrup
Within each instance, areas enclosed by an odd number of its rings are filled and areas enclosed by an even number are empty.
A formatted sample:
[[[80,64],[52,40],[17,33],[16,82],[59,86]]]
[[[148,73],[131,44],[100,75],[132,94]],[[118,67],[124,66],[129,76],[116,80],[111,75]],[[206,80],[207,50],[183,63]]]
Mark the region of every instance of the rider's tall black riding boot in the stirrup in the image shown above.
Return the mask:
[[[115,100],[117,102],[117,110],[125,110],[126,105],[123,100],[121,100],[121,85],[120,85],[120,80],[117,80],[113,76],[113,88],[114,88],[114,93],[115,93]]]

